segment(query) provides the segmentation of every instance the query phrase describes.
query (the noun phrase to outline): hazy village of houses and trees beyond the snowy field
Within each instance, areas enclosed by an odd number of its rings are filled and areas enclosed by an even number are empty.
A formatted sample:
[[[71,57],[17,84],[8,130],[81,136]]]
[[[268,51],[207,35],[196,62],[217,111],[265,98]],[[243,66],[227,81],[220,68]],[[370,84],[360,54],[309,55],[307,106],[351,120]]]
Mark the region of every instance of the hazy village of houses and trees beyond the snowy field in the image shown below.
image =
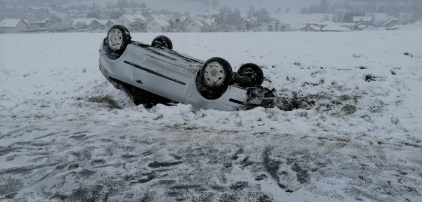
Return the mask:
[[[289,7],[239,10],[221,6],[220,0],[192,1],[201,6],[197,13],[153,10],[134,0],[108,2],[106,6],[70,0],[31,2],[34,5],[0,0],[0,33],[106,32],[115,24],[131,32],[350,32],[396,30],[397,25],[417,23],[422,16],[420,1],[333,4],[321,0],[297,12]]]

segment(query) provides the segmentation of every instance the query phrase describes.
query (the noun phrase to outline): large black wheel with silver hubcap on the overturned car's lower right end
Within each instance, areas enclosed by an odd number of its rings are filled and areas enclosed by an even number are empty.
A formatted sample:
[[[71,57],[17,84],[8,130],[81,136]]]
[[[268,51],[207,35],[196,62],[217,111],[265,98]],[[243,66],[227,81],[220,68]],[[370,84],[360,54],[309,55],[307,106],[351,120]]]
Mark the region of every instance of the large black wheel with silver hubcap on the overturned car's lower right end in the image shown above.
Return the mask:
[[[220,98],[227,90],[233,77],[230,63],[223,58],[207,60],[196,77],[198,92],[206,99]]]

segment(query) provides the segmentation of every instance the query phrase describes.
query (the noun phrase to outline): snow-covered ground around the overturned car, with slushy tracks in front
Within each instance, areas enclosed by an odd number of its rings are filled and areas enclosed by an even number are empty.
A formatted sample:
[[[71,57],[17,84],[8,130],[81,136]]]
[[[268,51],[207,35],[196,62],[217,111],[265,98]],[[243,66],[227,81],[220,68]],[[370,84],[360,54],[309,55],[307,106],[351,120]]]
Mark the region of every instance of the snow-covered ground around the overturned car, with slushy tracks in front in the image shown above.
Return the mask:
[[[145,109],[101,75],[105,34],[0,35],[0,200],[422,201],[421,30],[167,36],[308,105]]]

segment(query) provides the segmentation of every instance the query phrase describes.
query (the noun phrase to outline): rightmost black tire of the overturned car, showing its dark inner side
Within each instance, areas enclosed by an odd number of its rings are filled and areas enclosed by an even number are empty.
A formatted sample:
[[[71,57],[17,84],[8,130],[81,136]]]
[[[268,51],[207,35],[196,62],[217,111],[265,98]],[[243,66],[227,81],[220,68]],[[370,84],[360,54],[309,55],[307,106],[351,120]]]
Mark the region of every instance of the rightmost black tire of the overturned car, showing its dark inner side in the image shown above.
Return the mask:
[[[240,77],[247,77],[246,79],[240,80],[238,83],[242,87],[254,87],[261,86],[264,82],[264,72],[262,72],[261,67],[253,63],[247,63],[242,65],[239,70],[237,70],[237,75]]]

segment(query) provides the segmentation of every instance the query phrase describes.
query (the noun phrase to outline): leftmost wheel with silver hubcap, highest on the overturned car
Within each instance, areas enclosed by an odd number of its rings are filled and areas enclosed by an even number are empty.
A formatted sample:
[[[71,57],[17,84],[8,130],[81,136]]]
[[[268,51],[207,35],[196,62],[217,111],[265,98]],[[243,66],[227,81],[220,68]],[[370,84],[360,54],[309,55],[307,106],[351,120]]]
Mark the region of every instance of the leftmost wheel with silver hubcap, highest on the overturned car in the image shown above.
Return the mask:
[[[105,40],[107,47],[113,53],[122,54],[130,43],[129,30],[122,25],[114,25],[107,33]]]

